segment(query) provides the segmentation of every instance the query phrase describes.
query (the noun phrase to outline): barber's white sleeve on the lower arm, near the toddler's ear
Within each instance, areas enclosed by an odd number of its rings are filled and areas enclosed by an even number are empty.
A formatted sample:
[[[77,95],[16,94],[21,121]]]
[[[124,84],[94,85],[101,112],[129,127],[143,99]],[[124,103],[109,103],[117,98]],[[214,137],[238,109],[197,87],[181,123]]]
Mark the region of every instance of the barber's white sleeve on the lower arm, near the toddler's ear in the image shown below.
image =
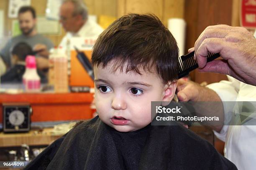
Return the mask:
[[[220,130],[220,133],[216,132],[215,130],[213,130],[213,132],[217,138],[224,142],[228,132],[228,125],[233,114],[233,104],[235,103],[233,101],[236,101],[238,90],[240,88],[240,81],[230,76],[228,76],[228,80],[229,81],[222,80],[220,82],[207,85],[207,87],[214,90],[219,95],[221,101],[223,101],[224,126]]]

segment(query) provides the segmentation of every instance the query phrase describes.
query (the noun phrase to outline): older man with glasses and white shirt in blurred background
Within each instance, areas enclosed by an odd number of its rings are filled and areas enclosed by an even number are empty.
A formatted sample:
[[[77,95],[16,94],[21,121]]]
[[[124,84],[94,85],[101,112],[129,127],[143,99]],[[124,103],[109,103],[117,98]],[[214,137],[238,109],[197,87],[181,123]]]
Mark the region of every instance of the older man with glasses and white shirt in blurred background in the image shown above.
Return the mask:
[[[60,43],[64,48],[71,37],[97,37],[103,31],[100,25],[88,20],[87,7],[82,0],[62,1],[60,23],[67,32]]]

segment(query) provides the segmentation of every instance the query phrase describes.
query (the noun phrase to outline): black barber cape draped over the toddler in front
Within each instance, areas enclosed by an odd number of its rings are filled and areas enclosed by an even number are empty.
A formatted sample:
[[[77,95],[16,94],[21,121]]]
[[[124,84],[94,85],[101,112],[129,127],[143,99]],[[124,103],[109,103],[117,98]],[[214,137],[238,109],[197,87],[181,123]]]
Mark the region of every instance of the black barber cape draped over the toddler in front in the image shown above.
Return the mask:
[[[97,116],[40,153],[25,170],[237,170],[182,125],[120,133]]]

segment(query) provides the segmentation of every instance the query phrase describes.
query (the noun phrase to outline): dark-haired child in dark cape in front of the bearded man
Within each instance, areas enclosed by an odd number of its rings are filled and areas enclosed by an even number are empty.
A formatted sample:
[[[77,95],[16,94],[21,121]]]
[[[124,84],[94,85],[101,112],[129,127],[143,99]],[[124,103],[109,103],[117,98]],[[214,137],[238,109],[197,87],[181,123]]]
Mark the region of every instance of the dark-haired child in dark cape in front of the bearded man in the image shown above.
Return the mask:
[[[26,42],[19,42],[11,51],[12,67],[1,76],[1,83],[22,83],[22,76],[26,70],[26,57],[33,55],[32,48]],[[38,71],[41,82],[47,82],[47,77],[41,71]]]

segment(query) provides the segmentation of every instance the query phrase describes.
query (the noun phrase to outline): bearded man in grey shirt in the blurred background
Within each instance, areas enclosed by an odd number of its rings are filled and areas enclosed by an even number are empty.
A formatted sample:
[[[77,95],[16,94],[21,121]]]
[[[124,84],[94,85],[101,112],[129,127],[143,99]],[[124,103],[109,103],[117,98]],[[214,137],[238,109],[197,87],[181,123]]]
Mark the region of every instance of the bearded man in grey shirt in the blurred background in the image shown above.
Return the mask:
[[[5,47],[0,51],[0,56],[5,62],[5,65],[8,68],[11,66],[11,55],[10,51],[12,48],[19,42],[26,42],[31,46],[35,51],[40,46],[45,46],[49,50],[54,47],[53,43],[39,35],[36,32],[36,12],[31,6],[23,6],[18,11],[18,20],[20,25],[21,35],[11,38]],[[40,57],[37,57],[38,68],[44,69],[42,65],[47,65],[47,54],[39,54]],[[41,63],[40,63],[41,62]],[[3,73],[3,72],[2,72]]]

